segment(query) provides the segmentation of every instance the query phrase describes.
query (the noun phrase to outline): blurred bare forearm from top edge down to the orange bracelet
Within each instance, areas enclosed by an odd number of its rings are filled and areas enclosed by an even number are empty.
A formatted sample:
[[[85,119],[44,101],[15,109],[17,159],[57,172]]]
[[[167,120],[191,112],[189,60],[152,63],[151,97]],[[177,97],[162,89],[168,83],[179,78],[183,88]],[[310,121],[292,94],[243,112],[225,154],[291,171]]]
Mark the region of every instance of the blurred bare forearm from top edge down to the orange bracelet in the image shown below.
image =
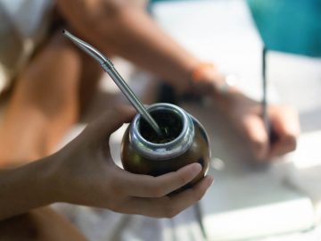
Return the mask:
[[[105,1],[108,4],[99,11],[89,5],[69,11],[71,4],[61,2],[68,23],[104,53],[127,58],[177,89],[190,87],[188,80],[199,60],[158,27],[144,8]]]

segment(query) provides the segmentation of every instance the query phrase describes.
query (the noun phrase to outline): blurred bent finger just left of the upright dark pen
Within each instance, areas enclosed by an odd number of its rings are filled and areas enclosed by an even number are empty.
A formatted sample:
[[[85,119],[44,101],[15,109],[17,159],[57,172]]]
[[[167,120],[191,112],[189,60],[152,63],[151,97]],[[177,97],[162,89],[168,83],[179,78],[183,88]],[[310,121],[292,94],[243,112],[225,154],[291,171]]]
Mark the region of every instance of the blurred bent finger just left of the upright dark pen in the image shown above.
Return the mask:
[[[251,115],[243,119],[243,132],[250,141],[252,154],[263,159],[268,154],[268,134],[259,116]]]

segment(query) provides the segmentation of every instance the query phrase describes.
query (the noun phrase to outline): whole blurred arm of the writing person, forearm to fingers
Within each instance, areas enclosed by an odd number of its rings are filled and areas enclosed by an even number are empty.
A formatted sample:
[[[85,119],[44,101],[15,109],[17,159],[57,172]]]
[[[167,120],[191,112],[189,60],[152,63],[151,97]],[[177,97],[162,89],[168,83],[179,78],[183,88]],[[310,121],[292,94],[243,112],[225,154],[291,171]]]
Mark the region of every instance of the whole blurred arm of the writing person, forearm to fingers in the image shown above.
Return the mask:
[[[192,92],[211,96],[213,103],[243,134],[252,154],[267,159],[291,152],[299,133],[298,114],[287,107],[270,106],[272,129],[278,137],[270,143],[260,104],[230,88],[224,95],[219,86],[222,74],[213,66],[199,71],[199,81],[192,72],[200,61],[162,31],[145,12],[128,0],[63,1],[58,6],[70,26],[105,53],[118,54],[152,71],[175,87],[178,93]],[[81,3],[81,4],[80,4]]]

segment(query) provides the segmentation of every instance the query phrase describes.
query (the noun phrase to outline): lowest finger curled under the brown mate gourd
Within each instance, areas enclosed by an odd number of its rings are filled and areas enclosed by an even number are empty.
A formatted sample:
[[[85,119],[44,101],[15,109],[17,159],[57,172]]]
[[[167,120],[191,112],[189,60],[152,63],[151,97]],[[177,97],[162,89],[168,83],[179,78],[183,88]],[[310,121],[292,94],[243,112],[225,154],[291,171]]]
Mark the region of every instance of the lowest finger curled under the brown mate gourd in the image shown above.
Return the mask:
[[[202,199],[213,178],[206,176],[196,185],[176,195],[159,198],[132,197],[125,212],[142,214],[153,218],[172,218]]]

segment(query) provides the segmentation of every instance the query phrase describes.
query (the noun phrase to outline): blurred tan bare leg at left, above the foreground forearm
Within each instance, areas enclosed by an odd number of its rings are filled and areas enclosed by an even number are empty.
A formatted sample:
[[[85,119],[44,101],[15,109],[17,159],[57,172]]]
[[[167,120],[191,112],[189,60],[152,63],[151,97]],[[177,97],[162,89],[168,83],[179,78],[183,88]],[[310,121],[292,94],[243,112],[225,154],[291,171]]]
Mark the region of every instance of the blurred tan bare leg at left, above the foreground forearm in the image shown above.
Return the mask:
[[[18,79],[0,127],[0,167],[51,153],[78,120],[80,103],[89,98],[84,89],[95,89],[98,69],[60,33],[56,34]],[[82,83],[81,76],[90,83]],[[86,95],[80,98],[80,92]]]

